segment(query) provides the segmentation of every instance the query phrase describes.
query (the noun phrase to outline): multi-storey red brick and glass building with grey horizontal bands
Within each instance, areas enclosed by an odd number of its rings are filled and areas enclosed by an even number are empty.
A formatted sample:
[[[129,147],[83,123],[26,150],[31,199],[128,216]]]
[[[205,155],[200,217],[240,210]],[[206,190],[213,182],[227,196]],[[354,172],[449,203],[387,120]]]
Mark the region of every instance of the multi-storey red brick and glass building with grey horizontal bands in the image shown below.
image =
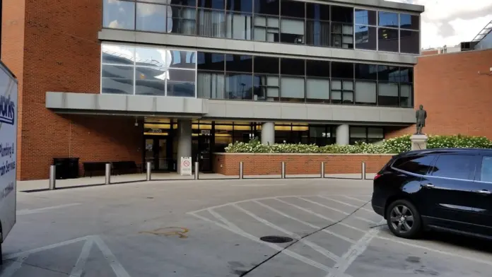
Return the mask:
[[[389,1],[3,0],[18,178],[53,158],[179,170],[233,141],[377,142],[415,122],[423,6]]]

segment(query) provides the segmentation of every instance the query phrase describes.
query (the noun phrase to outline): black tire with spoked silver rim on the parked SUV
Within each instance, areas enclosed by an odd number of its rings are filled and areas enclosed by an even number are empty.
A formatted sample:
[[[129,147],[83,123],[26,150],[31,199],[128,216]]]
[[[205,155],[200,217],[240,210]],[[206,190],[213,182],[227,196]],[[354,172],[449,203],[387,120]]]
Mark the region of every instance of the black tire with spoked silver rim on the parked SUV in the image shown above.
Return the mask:
[[[397,237],[415,239],[421,235],[421,216],[410,201],[402,199],[392,202],[385,214],[389,230]]]

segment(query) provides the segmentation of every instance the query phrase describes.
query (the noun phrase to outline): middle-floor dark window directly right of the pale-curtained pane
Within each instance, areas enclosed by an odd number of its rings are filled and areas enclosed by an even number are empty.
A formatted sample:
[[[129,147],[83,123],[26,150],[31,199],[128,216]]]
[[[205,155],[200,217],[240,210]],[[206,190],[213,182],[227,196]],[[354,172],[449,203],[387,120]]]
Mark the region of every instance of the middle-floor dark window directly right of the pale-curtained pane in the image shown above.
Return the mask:
[[[252,75],[245,73],[227,73],[225,80],[227,99],[253,100]]]

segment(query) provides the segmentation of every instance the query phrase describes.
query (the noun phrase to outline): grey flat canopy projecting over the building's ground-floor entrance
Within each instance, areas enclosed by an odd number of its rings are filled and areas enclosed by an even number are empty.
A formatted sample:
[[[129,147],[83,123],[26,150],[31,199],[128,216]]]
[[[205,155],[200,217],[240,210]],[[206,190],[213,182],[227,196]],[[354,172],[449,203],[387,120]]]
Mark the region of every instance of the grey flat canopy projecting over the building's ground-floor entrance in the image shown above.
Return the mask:
[[[209,100],[144,95],[47,92],[46,107],[57,113],[200,118],[209,112]]]

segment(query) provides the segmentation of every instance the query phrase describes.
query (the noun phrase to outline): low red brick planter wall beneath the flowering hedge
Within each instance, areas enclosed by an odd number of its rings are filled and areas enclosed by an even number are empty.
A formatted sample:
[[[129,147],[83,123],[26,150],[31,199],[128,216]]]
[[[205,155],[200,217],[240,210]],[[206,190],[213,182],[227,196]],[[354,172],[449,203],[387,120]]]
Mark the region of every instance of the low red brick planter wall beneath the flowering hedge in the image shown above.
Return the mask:
[[[244,175],[280,175],[281,163],[286,162],[286,175],[320,174],[325,162],[325,174],[360,173],[365,162],[366,172],[379,171],[392,155],[358,154],[242,154],[216,153],[213,155],[213,172],[239,175],[243,162]]]

